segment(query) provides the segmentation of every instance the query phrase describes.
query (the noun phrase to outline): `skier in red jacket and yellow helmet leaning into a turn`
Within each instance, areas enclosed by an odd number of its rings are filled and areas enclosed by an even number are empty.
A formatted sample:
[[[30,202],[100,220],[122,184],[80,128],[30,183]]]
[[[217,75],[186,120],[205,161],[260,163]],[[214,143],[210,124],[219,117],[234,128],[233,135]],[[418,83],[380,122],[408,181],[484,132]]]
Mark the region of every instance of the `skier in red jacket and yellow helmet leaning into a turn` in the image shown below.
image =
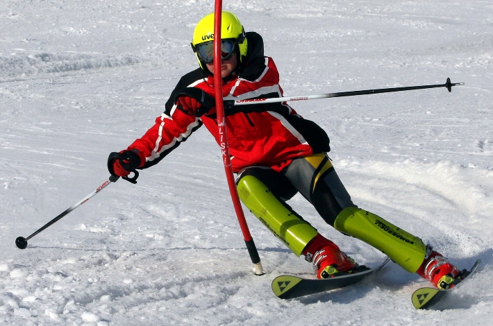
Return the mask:
[[[264,55],[262,37],[245,33],[231,12],[222,12],[221,76],[225,99],[283,96],[272,58]],[[213,53],[214,13],[194,29],[192,50],[199,68],[179,80],[165,112],[126,150],[108,157],[112,175],[128,177],[147,169],[205,125],[219,143],[215,112]],[[297,256],[312,262],[318,278],[355,273],[364,268],[322,236],[287,205],[301,193],[321,218],[344,234],[381,250],[410,273],[439,289],[464,275],[418,237],[353,204],[327,156],[326,132],[303,119],[286,103],[226,108],[226,131],[240,199]]]

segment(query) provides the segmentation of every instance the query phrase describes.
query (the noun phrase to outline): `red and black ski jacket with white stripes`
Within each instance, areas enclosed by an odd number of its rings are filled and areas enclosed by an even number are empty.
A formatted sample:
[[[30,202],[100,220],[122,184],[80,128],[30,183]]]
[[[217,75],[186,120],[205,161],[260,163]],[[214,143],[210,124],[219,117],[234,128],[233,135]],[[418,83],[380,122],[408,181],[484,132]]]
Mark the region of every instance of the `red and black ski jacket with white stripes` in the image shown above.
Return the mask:
[[[264,56],[262,37],[249,32],[247,40],[247,59],[235,76],[224,80],[224,98],[283,96],[276,65]],[[202,125],[219,144],[214,87],[214,77],[200,68],[181,78],[165,105],[165,112],[156,118],[154,126],[142,138],[128,147],[146,157],[140,169],[157,164]],[[201,98],[190,96],[197,92],[201,92]],[[205,101],[204,96],[207,97]],[[233,106],[225,108],[225,116],[231,165],[235,172],[247,166],[268,166],[280,171],[296,157],[330,151],[326,132],[296,114],[285,102]]]

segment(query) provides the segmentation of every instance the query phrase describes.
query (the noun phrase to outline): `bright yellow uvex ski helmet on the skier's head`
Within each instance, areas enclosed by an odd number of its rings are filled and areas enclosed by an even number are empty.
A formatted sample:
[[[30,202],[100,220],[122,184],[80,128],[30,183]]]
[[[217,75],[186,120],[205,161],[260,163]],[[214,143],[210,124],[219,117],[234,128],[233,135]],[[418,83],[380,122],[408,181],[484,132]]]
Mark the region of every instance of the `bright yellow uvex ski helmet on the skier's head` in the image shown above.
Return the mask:
[[[202,51],[199,50],[199,46],[208,45],[211,50],[212,41],[214,40],[214,12],[203,17],[200,22],[195,26],[194,37],[192,39],[192,50],[195,55],[197,55],[197,60],[199,60],[200,67],[207,71],[206,63],[212,62],[212,53],[208,56],[208,58],[203,58]],[[245,31],[240,23],[238,17],[236,17],[233,12],[223,11],[221,15],[221,40],[223,41],[222,48],[227,46],[228,44],[224,44],[224,40],[233,41],[231,43],[234,48],[231,49],[230,56],[227,58],[231,58],[231,54],[239,51],[240,55],[240,64],[247,58],[247,38],[245,37]],[[209,45],[210,44],[210,45]],[[230,44],[230,45],[231,45]],[[228,49],[229,50],[229,49]],[[225,59],[227,59],[225,58]]]

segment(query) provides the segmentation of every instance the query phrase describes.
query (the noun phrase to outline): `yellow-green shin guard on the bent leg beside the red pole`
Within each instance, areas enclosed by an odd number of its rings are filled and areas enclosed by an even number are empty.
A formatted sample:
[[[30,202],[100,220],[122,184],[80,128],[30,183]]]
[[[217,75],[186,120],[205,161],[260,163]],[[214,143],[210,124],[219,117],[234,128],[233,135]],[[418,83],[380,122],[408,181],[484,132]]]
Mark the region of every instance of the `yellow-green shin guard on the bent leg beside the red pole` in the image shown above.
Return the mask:
[[[296,256],[301,255],[317,230],[287,209],[260,180],[252,175],[241,178],[238,195],[250,212]]]

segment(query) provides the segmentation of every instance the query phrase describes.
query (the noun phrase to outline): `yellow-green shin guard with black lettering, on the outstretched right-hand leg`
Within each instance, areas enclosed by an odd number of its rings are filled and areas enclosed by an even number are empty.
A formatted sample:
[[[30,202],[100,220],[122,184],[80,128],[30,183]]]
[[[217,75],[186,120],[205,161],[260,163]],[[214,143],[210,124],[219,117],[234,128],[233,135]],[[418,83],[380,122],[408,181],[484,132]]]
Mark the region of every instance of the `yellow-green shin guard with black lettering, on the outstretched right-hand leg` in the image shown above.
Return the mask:
[[[343,209],[335,218],[334,228],[381,250],[410,273],[418,270],[426,255],[421,239],[356,207]]]

